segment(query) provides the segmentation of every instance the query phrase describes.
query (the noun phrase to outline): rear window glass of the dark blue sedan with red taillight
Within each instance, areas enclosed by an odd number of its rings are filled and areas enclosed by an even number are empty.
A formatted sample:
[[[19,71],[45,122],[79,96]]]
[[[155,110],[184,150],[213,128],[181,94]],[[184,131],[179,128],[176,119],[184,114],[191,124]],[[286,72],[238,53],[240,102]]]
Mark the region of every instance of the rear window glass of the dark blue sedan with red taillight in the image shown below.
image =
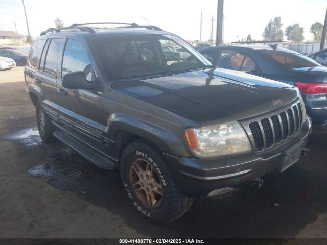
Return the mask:
[[[270,57],[275,59],[279,64],[282,64],[285,68],[288,69],[321,66],[313,59],[295,52],[291,53],[278,50],[258,50],[258,52],[269,55]]]

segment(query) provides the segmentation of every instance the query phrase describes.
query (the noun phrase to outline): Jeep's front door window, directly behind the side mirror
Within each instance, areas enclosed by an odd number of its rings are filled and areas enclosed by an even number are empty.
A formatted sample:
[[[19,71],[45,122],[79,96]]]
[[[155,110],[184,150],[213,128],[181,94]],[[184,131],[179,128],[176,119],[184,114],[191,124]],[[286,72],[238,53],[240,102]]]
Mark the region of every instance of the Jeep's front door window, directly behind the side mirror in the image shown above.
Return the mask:
[[[92,80],[92,68],[83,44],[68,39],[62,60],[62,77],[68,72],[83,71],[88,81]]]

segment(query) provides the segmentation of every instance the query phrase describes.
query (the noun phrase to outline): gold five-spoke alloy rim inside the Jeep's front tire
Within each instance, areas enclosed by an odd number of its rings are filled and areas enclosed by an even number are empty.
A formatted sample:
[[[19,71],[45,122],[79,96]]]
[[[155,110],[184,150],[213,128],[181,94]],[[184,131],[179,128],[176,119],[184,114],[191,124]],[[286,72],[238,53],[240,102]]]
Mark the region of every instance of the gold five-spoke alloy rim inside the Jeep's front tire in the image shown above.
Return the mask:
[[[132,162],[129,181],[139,201],[148,208],[159,207],[164,191],[156,169],[148,160],[137,158]]]

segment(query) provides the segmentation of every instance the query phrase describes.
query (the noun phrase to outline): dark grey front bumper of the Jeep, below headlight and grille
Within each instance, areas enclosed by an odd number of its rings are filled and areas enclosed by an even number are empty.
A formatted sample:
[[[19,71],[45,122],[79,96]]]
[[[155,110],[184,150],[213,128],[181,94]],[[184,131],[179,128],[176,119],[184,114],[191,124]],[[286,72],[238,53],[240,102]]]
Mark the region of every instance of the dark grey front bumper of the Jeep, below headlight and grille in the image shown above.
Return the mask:
[[[232,188],[274,171],[281,164],[282,152],[301,140],[305,142],[304,147],[310,134],[311,119],[307,116],[301,131],[295,137],[262,155],[253,151],[215,159],[164,155],[183,193],[194,198],[207,197],[214,195],[218,189]]]

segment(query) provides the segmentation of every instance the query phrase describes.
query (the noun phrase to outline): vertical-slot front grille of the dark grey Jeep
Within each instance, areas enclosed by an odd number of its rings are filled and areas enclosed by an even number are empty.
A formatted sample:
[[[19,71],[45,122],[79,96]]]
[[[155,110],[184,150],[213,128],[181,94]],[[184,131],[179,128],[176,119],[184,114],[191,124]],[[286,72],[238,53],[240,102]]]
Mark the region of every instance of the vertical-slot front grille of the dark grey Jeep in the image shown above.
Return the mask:
[[[253,145],[257,151],[272,147],[294,136],[302,127],[302,108],[300,103],[272,113],[266,117],[249,122]]]

